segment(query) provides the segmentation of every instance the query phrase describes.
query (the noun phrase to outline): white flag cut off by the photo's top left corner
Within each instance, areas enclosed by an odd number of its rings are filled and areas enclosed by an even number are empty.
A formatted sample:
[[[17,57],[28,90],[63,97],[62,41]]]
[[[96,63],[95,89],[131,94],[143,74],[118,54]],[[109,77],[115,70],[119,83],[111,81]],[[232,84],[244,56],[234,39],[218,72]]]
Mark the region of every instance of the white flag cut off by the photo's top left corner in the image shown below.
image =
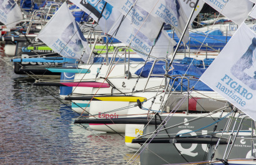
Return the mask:
[[[0,22],[11,28],[22,19],[21,9],[14,0],[0,0]]]

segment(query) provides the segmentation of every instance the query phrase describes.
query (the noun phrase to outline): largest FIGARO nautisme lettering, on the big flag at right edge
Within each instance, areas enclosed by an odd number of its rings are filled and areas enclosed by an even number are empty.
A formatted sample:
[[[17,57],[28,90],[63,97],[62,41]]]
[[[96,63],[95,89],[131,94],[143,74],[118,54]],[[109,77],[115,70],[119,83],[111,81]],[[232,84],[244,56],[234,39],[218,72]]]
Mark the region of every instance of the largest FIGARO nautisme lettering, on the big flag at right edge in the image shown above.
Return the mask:
[[[241,106],[245,106],[246,102],[242,100],[240,96],[246,100],[250,100],[252,97],[254,97],[252,93],[249,93],[247,89],[242,87],[242,85],[239,85],[239,83],[235,82],[232,78],[229,77],[229,75],[225,74],[224,77],[220,80],[227,84],[228,87],[225,87],[220,82],[218,82],[216,87],[219,88],[219,90],[221,90],[225,95],[232,98],[234,101],[237,101],[237,103],[239,103]],[[239,95],[235,95],[235,93],[239,93]]]

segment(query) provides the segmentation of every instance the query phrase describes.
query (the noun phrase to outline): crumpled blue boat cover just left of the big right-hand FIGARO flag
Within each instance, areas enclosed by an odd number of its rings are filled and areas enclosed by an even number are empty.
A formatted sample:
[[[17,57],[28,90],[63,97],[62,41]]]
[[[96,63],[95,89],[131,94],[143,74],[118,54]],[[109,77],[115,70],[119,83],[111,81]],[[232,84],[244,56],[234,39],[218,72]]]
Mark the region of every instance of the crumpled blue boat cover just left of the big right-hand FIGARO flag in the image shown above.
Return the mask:
[[[148,77],[152,64],[153,62],[147,62],[145,67],[142,67],[139,70],[137,70],[135,74],[140,75],[140,72],[142,71],[141,77]],[[189,78],[189,88],[194,87],[194,90],[212,91],[212,89],[207,85],[205,85],[205,83],[198,80],[202,75],[202,73],[204,73],[206,68],[197,67],[197,64],[195,65],[184,64],[184,62],[174,62],[172,66],[174,67],[174,69],[170,70],[168,74],[180,75],[180,76],[185,75],[184,77]],[[157,62],[153,68],[152,74],[164,75],[165,63]],[[191,79],[191,77],[193,78]],[[173,83],[173,80],[170,82],[170,84],[172,83]],[[181,90],[179,83],[180,83],[180,79],[178,79],[178,81],[175,81],[174,83],[175,90],[178,90],[178,91]],[[182,83],[183,83],[183,86],[182,86],[183,90],[187,90],[187,79],[184,78]]]

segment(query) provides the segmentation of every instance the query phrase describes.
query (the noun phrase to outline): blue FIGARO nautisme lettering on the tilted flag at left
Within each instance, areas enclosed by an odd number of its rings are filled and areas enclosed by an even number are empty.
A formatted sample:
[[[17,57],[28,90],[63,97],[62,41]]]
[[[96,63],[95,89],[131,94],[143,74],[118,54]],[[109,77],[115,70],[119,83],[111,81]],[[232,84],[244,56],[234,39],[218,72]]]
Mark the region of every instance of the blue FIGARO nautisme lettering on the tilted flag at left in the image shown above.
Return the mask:
[[[65,43],[63,43],[60,39],[57,39],[54,44],[52,44],[54,49],[57,50],[57,52],[61,52],[61,55],[65,57],[75,57],[76,54],[72,52],[72,50],[67,47]]]

